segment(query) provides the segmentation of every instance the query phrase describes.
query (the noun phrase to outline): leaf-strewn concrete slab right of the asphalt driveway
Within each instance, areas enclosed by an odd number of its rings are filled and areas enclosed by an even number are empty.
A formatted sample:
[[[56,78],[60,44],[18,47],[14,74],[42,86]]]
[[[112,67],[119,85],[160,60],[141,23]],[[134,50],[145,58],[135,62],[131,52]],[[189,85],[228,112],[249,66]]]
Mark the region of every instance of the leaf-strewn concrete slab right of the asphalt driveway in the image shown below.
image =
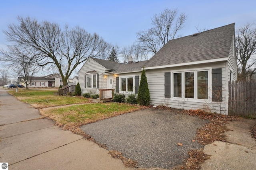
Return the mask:
[[[256,170],[256,140],[250,132],[255,124],[256,119],[229,121],[226,142],[204,146],[204,153],[211,157],[200,165],[202,170]]]

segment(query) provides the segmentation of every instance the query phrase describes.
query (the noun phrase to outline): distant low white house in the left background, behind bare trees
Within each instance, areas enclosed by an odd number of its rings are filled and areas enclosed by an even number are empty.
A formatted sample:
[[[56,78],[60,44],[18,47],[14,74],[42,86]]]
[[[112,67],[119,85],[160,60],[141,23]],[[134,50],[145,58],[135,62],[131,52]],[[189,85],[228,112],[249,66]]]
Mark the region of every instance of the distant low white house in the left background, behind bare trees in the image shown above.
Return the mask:
[[[59,87],[60,85],[63,85],[62,78],[60,74],[49,74],[47,76],[30,76],[28,77],[29,84],[28,88],[38,88],[38,87]],[[24,78],[19,77],[18,83],[26,86],[24,82]]]

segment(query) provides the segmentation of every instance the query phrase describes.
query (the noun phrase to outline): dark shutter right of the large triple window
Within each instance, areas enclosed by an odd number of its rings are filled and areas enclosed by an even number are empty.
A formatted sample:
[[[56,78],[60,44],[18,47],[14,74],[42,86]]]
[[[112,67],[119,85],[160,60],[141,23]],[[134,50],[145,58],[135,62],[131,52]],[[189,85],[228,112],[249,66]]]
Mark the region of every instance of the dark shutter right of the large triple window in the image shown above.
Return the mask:
[[[212,101],[222,102],[222,75],[221,68],[212,69]]]

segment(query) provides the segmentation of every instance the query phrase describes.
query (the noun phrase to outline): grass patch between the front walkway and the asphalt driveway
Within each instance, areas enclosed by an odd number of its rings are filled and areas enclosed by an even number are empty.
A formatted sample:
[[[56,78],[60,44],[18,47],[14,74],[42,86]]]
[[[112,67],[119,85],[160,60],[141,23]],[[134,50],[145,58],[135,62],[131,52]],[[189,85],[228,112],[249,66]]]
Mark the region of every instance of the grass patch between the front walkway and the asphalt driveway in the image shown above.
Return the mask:
[[[41,109],[40,113],[56,122],[56,125],[64,129],[73,131],[77,127],[114,117],[124,113],[129,113],[141,109],[142,107],[121,103],[96,103],[74,105],[61,108]]]

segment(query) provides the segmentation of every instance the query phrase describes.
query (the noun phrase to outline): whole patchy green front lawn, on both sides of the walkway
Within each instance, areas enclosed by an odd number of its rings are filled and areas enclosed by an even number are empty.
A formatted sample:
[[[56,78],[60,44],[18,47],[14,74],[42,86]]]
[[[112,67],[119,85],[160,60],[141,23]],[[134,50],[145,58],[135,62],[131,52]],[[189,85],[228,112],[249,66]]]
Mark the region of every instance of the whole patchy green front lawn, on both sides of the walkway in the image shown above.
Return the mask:
[[[57,90],[8,91],[22,102],[40,109],[40,114],[56,121],[59,126],[71,131],[79,131],[80,125],[100,121],[124,113],[142,109],[138,105],[124,103],[91,103],[87,98],[54,95]],[[72,105],[70,104],[82,104]],[[52,108],[52,106],[57,106]]]

